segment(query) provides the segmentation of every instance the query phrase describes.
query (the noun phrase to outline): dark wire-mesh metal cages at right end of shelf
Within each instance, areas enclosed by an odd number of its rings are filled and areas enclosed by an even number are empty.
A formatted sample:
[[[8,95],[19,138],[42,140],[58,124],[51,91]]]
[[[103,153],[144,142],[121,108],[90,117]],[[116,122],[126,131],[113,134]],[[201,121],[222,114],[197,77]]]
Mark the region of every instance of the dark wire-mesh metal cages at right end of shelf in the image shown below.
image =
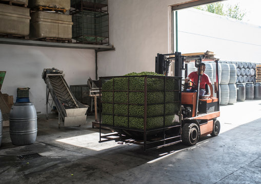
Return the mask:
[[[107,0],[71,0],[76,43],[109,44],[109,14]]]

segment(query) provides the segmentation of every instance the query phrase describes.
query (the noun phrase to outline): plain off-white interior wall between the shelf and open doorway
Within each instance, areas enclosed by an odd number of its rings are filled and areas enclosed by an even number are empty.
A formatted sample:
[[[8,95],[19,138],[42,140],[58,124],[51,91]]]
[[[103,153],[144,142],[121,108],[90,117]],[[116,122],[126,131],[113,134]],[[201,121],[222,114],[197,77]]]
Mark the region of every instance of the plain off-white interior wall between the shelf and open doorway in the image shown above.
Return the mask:
[[[98,53],[98,75],[155,71],[157,53],[168,53],[168,6],[178,0],[109,1],[110,43],[115,51]]]

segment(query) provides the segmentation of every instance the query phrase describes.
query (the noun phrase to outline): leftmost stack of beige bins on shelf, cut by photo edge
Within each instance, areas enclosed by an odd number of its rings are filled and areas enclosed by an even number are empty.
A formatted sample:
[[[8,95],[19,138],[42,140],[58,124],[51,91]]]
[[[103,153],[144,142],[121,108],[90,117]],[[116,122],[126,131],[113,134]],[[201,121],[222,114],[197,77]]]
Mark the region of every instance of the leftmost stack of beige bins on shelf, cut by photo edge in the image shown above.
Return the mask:
[[[0,37],[29,39],[28,0],[0,1]]]

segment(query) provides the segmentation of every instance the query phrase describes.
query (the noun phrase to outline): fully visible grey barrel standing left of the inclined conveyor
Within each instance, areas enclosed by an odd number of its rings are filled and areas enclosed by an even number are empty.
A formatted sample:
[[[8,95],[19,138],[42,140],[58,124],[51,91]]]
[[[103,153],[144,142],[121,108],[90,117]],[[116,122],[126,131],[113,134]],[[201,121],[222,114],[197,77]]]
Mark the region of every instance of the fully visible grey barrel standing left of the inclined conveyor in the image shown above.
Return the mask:
[[[37,135],[37,115],[32,103],[14,103],[9,132],[13,145],[33,144]]]

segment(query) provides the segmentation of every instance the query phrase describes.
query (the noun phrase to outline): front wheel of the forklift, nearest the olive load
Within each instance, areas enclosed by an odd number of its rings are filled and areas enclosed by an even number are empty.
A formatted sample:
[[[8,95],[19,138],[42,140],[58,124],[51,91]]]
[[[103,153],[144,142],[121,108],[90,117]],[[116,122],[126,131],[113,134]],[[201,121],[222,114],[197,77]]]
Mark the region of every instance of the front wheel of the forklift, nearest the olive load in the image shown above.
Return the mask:
[[[186,123],[182,128],[182,142],[185,145],[193,146],[199,139],[199,128],[195,123]]]

